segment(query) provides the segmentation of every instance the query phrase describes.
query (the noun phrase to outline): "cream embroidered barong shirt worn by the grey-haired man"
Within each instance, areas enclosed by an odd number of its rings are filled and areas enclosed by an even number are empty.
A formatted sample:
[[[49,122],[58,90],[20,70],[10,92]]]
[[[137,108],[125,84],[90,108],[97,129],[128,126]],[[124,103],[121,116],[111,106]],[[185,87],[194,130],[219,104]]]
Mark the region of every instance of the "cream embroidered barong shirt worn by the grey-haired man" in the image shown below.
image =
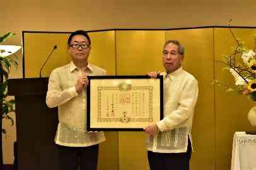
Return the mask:
[[[187,152],[188,140],[192,144],[192,121],[198,97],[198,84],[194,76],[179,67],[164,76],[164,118],[157,122],[160,130],[148,136],[147,149],[160,153]]]

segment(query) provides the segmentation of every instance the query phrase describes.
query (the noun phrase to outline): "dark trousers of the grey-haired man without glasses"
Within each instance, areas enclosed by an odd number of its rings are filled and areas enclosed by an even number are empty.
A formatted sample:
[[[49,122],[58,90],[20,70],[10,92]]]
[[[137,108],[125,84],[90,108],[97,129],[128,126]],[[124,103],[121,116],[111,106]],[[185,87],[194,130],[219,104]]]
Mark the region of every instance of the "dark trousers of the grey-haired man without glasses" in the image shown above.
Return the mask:
[[[187,152],[157,153],[148,151],[150,170],[189,170],[191,150],[192,148],[189,140]]]

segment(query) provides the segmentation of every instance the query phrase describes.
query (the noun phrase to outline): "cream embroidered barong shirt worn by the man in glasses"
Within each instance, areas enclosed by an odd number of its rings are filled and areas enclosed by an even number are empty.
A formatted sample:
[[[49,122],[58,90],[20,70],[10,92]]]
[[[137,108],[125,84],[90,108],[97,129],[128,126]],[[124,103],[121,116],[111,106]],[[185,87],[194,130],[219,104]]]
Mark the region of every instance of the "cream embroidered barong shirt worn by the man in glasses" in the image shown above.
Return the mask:
[[[49,77],[46,96],[47,106],[58,106],[59,123],[55,143],[69,147],[86,147],[99,144],[105,140],[103,132],[86,130],[86,89],[77,93],[75,89],[78,78],[87,76],[104,76],[106,71],[96,65],[88,64],[81,71],[73,62],[54,69]]]

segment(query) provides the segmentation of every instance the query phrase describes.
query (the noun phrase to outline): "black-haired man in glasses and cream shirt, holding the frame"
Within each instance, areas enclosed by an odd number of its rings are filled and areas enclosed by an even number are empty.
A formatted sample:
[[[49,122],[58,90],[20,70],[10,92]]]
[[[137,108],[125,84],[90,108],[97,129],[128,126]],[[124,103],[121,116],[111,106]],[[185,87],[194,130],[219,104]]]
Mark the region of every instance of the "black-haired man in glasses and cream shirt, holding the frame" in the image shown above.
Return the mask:
[[[103,132],[86,130],[87,76],[103,76],[106,71],[88,63],[91,40],[86,31],[71,33],[67,40],[71,63],[54,69],[49,77],[46,103],[58,106],[59,124],[55,143],[59,151],[59,169],[96,169],[98,144]]]

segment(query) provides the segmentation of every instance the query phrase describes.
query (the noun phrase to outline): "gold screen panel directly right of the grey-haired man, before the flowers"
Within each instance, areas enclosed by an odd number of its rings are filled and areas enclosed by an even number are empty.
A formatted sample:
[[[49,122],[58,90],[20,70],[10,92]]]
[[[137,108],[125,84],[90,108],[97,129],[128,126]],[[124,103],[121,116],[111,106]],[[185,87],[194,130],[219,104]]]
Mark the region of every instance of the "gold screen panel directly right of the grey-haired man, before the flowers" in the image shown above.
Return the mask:
[[[195,106],[191,169],[214,169],[214,87],[212,28],[166,31],[166,40],[178,40],[185,47],[183,69],[199,82]],[[199,163],[200,162],[200,163]]]

